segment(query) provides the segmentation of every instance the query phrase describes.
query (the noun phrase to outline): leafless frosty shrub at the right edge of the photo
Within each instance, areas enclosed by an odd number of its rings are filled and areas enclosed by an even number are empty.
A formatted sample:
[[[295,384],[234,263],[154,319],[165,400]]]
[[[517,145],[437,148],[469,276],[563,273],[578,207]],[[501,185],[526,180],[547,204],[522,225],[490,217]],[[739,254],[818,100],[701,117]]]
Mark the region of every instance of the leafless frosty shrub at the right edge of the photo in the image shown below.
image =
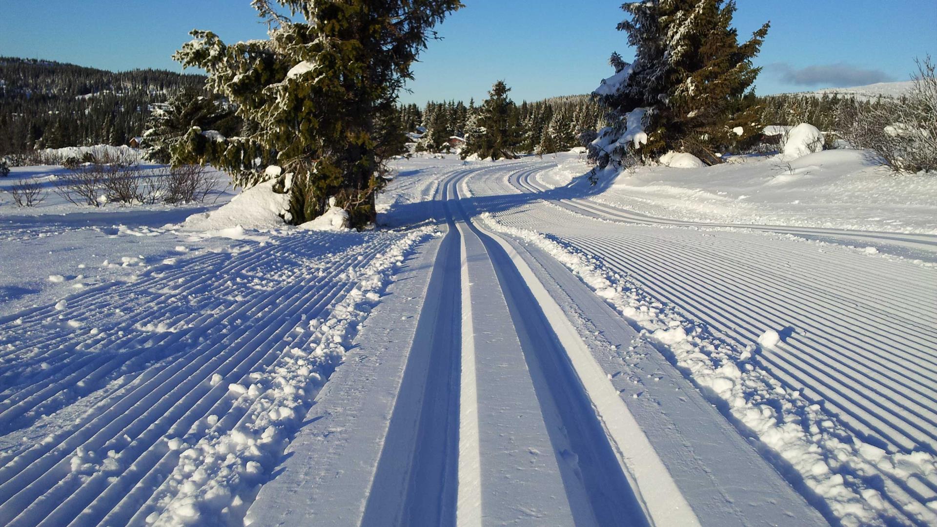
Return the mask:
[[[840,114],[842,137],[896,172],[937,171],[937,78],[930,56],[917,69],[907,96],[868,111],[850,105]]]

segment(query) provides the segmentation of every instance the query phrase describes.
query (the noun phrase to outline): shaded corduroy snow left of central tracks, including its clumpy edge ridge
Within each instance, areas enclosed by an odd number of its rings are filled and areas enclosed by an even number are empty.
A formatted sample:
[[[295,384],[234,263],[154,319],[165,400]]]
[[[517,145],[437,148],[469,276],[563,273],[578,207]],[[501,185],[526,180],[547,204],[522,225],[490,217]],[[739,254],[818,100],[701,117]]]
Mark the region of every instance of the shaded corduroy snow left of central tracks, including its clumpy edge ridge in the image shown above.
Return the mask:
[[[290,233],[0,320],[0,524],[241,522],[429,236]]]

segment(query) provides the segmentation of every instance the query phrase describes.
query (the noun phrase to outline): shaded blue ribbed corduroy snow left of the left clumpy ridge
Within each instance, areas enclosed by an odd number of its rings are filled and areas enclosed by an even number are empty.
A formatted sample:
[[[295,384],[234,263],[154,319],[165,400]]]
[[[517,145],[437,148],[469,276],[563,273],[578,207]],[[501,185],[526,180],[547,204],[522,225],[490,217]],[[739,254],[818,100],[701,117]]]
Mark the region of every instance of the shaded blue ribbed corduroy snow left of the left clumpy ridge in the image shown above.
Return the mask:
[[[156,267],[135,281],[85,290],[69,296],[63,310],[45,307],[7,317],[0,331],[18,338],[25,333],[25,339],[18,340],[15,349],[3,355],[5,378],[20,380],[3,392],[0,420],[7,426],[30,410],[67,410],[84,395],[105,395],[89,407],[102,412],[86,413],[77,422],[55,430],[46,441],[9,450],[0,459],[0,523],[142,523],[153,505],[144,504],[159,494],[160,485],[178,459],[179,452],[167,448],[162,438],[185,436],[209,414],[222,416],[209,427],[210,433],[224,433],[243,424],[249,406],[233,404],[228,383],[244,378],[249,371],[268,367],[288,345],[304,344],[303,338],[292,342],[284,339],[297,324],[324,316],[349,294],[355,282],[338,279],[340,275],[363,268],[400,237],[390,233],[377,241],[367,241],[364,252],[358,244],[339,246],[332,258],[326,258],[329,251],[309,251],[305,249],[309,245],[306,236],[294,235],[267,247],[231,255],[200,255],[180,267]],[[335,237],[322,234],[319,239],[329,241]],[[219,275],[231,281],[219,285]],[[186,278],[194,279],[177,281]],[[207,305],[192,302],[200,295],[208,297]],[[135,311],[129,308],[136,306],[137,312],[147,309],[138,304],[141,297],[149,300],[146,306],[163,305],[178,297],[184,308],[169,321],[160,320],[158,311],[142,321],[167,322],[169,327],[193,324],[193,328],[170,333],[135,329],[141,319],[131,316]],[[91,328],[96,324],[107,326],[110,309],[115,307],[126,307],[121,320],[130,322],[110,324],[113,327],[107,327],[106,334],[95,339],[90,335]],[[74,328],[58,324],[50,335],[51,328],[45,323],[60,313],[82,325]],[[262,317],[270,324],[260,328],[241,324],[254,317]],[[17,318],[21,320],[15,321]],[[118,331],[125,335],[113,338]],[[86,340],[72,345],[79,339]],[[171,350],[170,346],[184,339],[189,341],[188,349]],[[38,344],[48,351],[22,356],[23,350]],[[158,346],[154,356],[144,356],[153,346]],[[126,354],[82,358],[82,351],[97,347]],[[23,373],[42,362],[46,362],[42,375],[53,383],[38,389],[35,378]],[[128,363],[133,370],[122,371]],[[226,381],[211,385],[208,380],[215,374]],[[82,394],[50,403],[79,379],[86,384]],[[117,385],[109,384],[115,380],[119,380]],[[32,422],[22,425],[28,428]],[[75,477],[70,474],[69,459],[79,448],[91,452],[114,448],[119,451],[116,459],[123,470],[118,474],[100,471],[83,480]]]

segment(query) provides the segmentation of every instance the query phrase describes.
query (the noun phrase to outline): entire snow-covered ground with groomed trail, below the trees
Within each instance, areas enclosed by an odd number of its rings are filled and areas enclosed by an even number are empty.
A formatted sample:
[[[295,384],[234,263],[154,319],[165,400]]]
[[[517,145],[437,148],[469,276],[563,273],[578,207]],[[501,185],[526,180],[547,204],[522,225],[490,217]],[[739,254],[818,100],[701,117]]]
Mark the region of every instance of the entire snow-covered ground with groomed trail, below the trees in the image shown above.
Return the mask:
[[[937,523],[937,178],[394,168],[364,233],[0,194],[0,524]]]

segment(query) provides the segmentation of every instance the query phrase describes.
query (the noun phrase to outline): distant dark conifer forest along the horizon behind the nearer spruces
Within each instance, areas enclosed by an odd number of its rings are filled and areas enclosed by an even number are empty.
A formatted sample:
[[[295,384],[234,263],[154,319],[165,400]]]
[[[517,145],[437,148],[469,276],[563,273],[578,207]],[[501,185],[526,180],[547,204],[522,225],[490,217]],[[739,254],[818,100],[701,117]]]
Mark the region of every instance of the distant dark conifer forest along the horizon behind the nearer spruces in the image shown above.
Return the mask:
[[[121,145],[143,134],[153,110],[205,77],[167,70],[112,72],[53,61],[0,57],[0,156],[43,148]],[[760,97],[764,122],[811,123],[832,130],[855,98],[785,94]],[[860,104],[874,106],[878,101]],[[418,133],[417,151],[451,152],[479,110],[474,99],[398,105],[398,129]],[[598,102],[587,95],[522,101],[512,119],[521,130],[518,153],[549,154],[581,145],[588,130],[605,126]]]

